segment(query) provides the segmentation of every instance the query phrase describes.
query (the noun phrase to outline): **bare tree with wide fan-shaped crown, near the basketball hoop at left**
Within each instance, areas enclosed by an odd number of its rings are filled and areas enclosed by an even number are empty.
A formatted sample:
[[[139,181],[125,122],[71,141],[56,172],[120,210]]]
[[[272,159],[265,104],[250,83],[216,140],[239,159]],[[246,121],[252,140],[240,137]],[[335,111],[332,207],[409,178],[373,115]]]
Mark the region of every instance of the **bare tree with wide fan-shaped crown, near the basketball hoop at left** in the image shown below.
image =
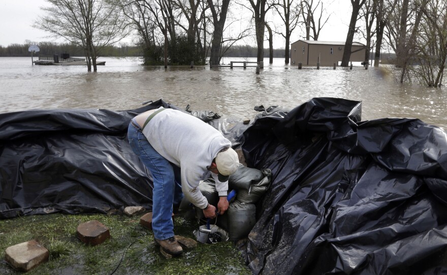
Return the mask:
[[[101,51],[120,41],[128,33],[119,7],[106,0],[47,0],[41,10],[47,13],[34,27],[63,37],[81,46],[87,60],[87,70],[97,71]]]

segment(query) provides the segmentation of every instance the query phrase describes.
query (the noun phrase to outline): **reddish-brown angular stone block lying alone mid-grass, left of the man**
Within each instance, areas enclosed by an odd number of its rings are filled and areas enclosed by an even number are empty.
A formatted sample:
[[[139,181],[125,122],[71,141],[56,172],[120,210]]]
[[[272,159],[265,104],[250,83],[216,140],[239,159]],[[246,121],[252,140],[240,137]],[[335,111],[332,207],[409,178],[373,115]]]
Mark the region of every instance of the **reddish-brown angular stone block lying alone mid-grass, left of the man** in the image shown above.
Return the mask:
[[[96,246],[110,237],[110,231],[104,224],[93,220],[78,225],[77,236],[82,243]]]

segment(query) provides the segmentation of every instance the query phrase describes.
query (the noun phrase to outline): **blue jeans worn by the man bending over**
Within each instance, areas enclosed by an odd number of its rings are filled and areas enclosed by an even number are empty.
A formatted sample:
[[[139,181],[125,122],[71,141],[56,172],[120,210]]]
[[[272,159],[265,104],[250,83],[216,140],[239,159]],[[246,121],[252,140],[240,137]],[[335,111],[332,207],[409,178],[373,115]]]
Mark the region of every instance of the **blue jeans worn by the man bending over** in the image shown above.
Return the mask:
[[[144,136],[141,128],[129,124],[127,138],[132,150],[149,169],[153,179],[152,191],[152,231],[156,239],[174,236],[172,204],[180,204],[180,167],[158,154]]]

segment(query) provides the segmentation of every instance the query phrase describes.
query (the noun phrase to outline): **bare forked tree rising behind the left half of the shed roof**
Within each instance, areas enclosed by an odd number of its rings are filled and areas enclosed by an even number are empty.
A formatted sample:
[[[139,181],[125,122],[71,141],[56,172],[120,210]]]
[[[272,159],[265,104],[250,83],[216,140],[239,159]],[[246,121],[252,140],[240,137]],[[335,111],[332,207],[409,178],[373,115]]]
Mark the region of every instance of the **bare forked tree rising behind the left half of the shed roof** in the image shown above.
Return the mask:
[[[317,23],[315,23],[315,12],[316,9],[320,6],[320,16],[318,17]],[[323,2],[318,0],[316,5],[314,5],[313,0],[303,0],[300,3],[300,11],[303,18],[302,23],[305,24],[306,28],[306,40],[310,40],[312,38],[313,40],[317,41],[318,37],[320,36],[320,31],[323,29],[323,27],[326,25],[326,23],[329,20],[329,17],[331,15],[328,15],[328,17],[323,18],[324,12],[326,9],[324,8]],[[322,23],[322,21],[324,21]],[[310,30],[312,29],[312,35],[310,34]]]

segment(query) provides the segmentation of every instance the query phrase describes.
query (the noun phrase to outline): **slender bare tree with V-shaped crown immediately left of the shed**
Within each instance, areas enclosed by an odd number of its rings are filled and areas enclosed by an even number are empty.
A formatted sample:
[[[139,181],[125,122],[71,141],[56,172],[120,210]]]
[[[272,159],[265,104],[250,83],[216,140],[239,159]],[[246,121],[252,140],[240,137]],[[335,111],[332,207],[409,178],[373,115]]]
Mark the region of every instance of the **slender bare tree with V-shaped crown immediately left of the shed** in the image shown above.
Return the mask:
[[[285,64],[289,64],[290,38],[292,36],[292,32],[297,27],[298,20],[300,18],[301,6],[297,2],[298,0],[278,0],[277,5],[274,6],[285,27],[284,32],[279,32],[279,34],[285,39]],[[268,26],[267,29],[271,31]]]

